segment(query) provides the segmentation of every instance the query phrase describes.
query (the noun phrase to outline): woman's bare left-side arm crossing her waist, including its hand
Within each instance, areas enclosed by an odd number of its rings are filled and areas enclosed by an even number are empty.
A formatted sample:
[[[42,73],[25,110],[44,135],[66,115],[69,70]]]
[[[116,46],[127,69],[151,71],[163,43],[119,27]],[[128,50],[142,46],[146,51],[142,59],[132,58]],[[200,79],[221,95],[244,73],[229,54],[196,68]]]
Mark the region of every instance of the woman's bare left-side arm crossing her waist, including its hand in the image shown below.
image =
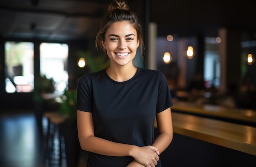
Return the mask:
[[[77,129],[81,148],[106,156],[132,156],[139,163],[146,167],[157,163],[159,160],[156,147],[115,143],[103,138],[94,136],[92,113],[77,110]],[[157,150],[157,151],[155,151]]]

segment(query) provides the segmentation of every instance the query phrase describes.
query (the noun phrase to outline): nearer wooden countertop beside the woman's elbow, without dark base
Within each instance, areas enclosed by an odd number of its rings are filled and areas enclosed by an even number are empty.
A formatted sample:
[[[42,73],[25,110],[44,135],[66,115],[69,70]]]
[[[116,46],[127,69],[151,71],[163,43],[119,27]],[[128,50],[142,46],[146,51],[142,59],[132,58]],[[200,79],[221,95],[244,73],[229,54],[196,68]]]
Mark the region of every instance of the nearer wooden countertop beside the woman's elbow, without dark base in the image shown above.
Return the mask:
[[[173,132],[256,156],[256,128],[172,113]]]

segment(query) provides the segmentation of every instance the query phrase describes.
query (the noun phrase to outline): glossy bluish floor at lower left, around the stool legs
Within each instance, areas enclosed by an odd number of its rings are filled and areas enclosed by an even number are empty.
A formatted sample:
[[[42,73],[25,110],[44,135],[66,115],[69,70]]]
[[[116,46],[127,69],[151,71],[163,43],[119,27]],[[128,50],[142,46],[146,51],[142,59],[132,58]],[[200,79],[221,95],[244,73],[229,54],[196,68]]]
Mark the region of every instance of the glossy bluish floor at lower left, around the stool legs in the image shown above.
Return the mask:
[[[43,132],[39,132],[30,111],[0,112],[0,167],[67,167],[65,139],[60,135],[59,140],[55,130],[49,149],[47,125],[43,118]],[[78,167],[85,167],[85,161],[86,152],[81,150]]]

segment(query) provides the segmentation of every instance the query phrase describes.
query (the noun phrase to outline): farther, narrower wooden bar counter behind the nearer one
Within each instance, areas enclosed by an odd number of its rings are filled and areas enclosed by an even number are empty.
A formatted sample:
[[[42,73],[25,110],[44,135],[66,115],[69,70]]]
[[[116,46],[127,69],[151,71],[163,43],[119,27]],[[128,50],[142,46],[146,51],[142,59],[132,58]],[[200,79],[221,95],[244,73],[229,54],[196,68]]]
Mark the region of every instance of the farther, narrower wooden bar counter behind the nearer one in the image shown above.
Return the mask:
[[[175,101],[171,107],[173,112],[208,116],[211,118],[241,123],[256,127],[256,110],[227,108],[220,105],[196,104],[186,101]]]

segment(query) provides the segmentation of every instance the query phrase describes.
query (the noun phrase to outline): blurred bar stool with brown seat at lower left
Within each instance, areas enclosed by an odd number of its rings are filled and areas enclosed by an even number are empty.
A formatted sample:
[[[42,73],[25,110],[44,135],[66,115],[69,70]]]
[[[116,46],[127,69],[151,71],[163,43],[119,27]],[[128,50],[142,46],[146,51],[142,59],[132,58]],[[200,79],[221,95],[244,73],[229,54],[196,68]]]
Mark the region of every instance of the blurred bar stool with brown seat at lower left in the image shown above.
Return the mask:
[[[47,111],[43,113],[47,119],[47,133],[45,136],[44,155],[49,166],[58,167],[65,163],[65,143],[64,137],[59,134],[59,125],[66,121],[57,111]]]

